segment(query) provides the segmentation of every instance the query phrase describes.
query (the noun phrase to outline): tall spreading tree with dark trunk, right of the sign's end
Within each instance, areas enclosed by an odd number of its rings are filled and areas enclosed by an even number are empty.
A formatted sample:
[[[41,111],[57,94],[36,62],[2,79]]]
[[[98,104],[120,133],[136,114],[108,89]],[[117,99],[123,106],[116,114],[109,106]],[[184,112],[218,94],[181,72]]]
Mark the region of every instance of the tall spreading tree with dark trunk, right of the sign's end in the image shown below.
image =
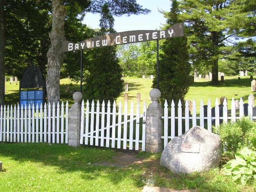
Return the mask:
[[[232,44],[235,37],[246,31],[242,24],[244,21],[251,24],[251,11],[241,11],[240,7],[246,1],[181,1],[181,18],[190,29],[188,44],[191,62],[194,66],[210,64],[214,84],[219,82],[218,61],[226,54],[223,47]]]

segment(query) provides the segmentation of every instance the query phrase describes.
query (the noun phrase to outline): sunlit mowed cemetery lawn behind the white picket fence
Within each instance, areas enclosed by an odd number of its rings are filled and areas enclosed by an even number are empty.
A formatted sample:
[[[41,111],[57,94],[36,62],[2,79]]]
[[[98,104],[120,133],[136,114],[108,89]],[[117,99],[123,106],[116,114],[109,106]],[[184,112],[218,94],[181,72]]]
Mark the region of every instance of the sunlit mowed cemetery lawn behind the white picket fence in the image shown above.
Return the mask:
[[[141,105],[145,101],[148,105],[151,103],[150,91],[152,90],[152,79],[143,79],[135,77],[125,77],[124,82],[129,84],[129,91],[127,92],[129,100],[128,104],[131,104],[131,101],[134,104],[137,103],[137,94],[141,94]],[[68,88],[68,89],[67,89]],[[6,83],[6,103],[7,104],[16,104],[19,100],[19,84],[11,84],[10,82]],[[72,94],[75,91],[80,90],[80,84],[72,82],[70,79],[61,79],[60,80],[60,98],[61,101],[69,101],[70,104],[73,103]],[[117,98],[117,104],[119,101],[124,103],[124,86],[123,92]],[[207,104],[208,99],[211,101],[211,105],[215,104],[216,98],[220,102],[220,97],[227,97],[228,106],[231,105],[232,98],[240,99],[242,98],[244,103],[248,102],[248,96],[250,94],[256,97],[256,92],[251,92],[251,81],[249,76],[241,77],[238,80],[238,76],[225,76],[224,82],[220,82],[217,86],[212,86],[210,81],[201,80],[194,82],[188,90],[188,93],[185,96],[187,100],[196,101],[197,106],[200,105],[201,100],[204,104]],[[97,98],[96,98],[97,100]],[[256,102],[256,99],[254,103]],[[254,104],[255,105],[255,104]]]

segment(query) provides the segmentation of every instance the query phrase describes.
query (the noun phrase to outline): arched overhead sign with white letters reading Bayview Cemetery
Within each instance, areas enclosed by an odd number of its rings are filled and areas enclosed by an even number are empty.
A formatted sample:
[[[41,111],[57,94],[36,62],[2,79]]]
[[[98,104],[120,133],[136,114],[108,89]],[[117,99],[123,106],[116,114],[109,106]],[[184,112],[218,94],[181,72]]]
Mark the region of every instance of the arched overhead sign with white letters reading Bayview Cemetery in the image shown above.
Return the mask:
[[[180,37],[180,36],[184,36],[183,23],[175,24],[166,30],[124,31],[119,33],[112,33],[112,34],[92,37],[78,43],[63,41],[62,52],[130,44],[130,43],[142,42],[142,41],[167,39],[167,38]]]

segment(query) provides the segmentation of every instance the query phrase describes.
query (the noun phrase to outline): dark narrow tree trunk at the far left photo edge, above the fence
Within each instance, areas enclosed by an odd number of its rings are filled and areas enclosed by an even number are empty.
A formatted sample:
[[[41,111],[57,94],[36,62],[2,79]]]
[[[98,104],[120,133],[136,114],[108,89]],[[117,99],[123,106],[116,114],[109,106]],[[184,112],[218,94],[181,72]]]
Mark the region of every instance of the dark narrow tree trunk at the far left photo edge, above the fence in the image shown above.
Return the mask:
[[[0,105],[5,104],[5,0],[0,0]]]

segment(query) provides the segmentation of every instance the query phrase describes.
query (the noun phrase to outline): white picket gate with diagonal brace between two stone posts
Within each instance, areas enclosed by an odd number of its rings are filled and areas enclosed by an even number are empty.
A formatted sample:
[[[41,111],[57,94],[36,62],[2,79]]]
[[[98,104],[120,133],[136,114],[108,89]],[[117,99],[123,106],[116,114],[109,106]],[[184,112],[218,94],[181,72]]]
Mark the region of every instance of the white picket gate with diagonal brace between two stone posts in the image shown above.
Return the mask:
[[[144,102],[140,114],[140,103],[135,107],[131,101],[129,113],[127,102],[123,107],[109,101],[105,109],[104,101],[101,106],[99,101],[96,106],[94,101],[86,106],[82,101],[80,144],[145,151],[146,107]]]

